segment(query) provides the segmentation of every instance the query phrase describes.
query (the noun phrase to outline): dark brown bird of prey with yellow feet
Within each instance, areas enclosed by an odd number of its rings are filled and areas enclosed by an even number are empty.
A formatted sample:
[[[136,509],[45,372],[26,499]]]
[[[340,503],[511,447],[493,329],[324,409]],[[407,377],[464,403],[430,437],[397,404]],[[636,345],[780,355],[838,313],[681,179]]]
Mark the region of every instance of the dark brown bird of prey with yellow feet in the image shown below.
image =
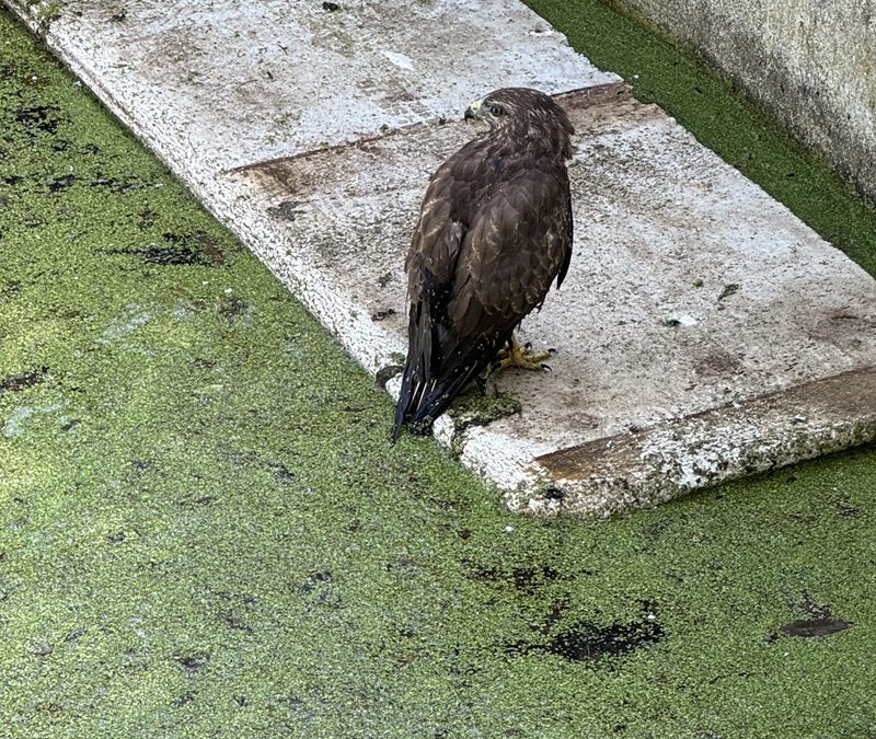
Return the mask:
[[[453,399],[505,350],[503,366],[541,369],[548,355],[514,338],[572,258],[565,111],[527,88],[475,101],[465,118],[487,130],[431,177],[405,261],[407,360],[393,441],[428,431]]]

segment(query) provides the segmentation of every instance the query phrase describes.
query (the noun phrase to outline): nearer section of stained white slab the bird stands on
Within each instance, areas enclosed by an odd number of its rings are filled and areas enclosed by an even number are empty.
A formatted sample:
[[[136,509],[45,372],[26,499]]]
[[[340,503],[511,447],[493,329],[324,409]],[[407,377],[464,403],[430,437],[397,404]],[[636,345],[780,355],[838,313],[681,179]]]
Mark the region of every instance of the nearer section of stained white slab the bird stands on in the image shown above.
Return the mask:
[[[593,515],[876,437],[876,281],[624,85],[560,100],[578,131],[575,258],[523,325],[557,349],[553,371],[500,376],[519,413],[443,419],[439,438],[515,508]],[[397,265],[425,183],[472,132],[414,126],[231,174],[260,256],[351,298],[355,314],[318,310],[371,371],[404,351]],[[835,376],[851,406],[811,385]]]

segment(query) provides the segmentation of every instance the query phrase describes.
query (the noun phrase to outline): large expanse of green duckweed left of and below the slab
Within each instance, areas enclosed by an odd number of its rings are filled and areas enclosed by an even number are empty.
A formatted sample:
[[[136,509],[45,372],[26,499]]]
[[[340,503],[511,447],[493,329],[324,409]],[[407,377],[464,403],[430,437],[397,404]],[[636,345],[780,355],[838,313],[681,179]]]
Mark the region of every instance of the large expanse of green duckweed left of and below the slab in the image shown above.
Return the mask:
[[[0,734],[872,736],[876,450],[514,516],[0,12]]]

